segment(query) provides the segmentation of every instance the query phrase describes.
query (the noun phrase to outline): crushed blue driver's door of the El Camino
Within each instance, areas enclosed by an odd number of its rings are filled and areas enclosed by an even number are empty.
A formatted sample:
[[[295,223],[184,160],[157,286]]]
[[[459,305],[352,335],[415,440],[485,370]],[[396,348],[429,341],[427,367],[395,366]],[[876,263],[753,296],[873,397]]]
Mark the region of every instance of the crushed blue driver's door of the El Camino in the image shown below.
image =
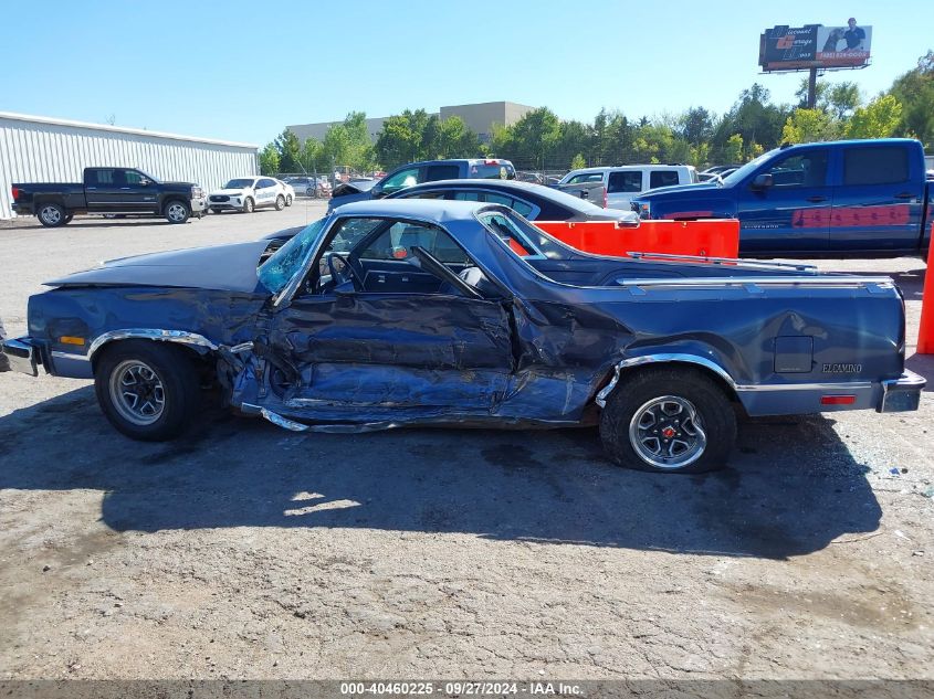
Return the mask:
[[[489,414],[514,360],[502,295],[478,273],[438,225],[338,219],[272,318],[287,368],[271,370],[271,398],[316,420]]]

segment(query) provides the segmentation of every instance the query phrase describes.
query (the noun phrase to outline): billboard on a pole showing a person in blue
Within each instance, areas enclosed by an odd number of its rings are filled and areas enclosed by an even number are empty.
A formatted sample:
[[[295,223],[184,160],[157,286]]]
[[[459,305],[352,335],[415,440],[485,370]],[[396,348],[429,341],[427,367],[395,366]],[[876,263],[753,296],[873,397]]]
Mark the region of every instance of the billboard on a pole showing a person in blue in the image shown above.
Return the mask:
[[[763,71],[801,68],[858,68],[869,63],[872,27],[774,27],[759,36],[759,65]]]

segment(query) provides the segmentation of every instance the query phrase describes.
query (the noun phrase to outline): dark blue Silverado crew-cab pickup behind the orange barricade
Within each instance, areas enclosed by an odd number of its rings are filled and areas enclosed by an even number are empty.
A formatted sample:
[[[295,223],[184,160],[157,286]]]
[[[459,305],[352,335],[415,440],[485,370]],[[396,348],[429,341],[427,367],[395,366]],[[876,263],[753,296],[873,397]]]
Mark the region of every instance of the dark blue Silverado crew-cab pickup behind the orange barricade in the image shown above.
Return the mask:
[[[721,181],[639,195],[643,219],[738,219],[748,257],[924,254],[934,187],[916,140],[783,146]]]

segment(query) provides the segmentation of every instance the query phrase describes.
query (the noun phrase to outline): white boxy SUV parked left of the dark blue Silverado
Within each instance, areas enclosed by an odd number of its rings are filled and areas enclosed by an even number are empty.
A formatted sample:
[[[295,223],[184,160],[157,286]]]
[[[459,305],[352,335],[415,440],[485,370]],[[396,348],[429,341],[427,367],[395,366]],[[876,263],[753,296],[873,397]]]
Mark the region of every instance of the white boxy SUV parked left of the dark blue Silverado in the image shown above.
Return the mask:
[[[571,170],[557,188],[594,203],[602,201],[605,206],[628,209],[632,197],[640,192],[699,181],[697,171],[690,165],[627,165]],[[605,192],[601,200],[597,199],[601,195],[599,188]]]

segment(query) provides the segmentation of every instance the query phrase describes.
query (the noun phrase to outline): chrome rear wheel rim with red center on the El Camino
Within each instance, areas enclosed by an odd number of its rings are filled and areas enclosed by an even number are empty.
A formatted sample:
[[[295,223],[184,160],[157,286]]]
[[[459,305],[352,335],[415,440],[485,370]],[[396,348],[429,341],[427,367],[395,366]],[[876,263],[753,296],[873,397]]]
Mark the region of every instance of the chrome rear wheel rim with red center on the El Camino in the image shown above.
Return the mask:
[[[704,454],[707,435],[691,401],[662,395],[644,403],[629,423],[636,454],[655,468],[684,468]]]

